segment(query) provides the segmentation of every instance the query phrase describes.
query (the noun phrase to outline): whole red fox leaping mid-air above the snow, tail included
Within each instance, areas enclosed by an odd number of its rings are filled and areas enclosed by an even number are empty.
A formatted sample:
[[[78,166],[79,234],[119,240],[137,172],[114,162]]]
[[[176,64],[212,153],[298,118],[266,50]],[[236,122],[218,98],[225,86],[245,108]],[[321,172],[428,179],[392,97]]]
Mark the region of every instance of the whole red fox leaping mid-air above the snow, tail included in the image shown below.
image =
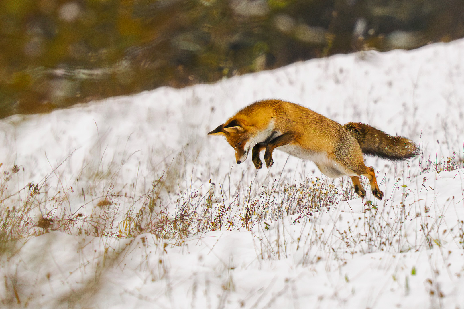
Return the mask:
[[[297,158],[313,161],[330,178],[349,176],[361,198],[366,191],[359,176],[367,177],[379,200],[383,192],[374,169],[364,165],[362,154],[392,161],[419,154],[419,148],[410,139],[390,136],[363,123],[342,126],[306,107],[281,100],[255,102],[208,134],[226,137],[235,150],[237,164],[245,161],[251,149],[253,164],[260,169],[263,163],[259,154],[265,150],[264,162],[270,167],[274,163],[272,151],[279,147]]]

